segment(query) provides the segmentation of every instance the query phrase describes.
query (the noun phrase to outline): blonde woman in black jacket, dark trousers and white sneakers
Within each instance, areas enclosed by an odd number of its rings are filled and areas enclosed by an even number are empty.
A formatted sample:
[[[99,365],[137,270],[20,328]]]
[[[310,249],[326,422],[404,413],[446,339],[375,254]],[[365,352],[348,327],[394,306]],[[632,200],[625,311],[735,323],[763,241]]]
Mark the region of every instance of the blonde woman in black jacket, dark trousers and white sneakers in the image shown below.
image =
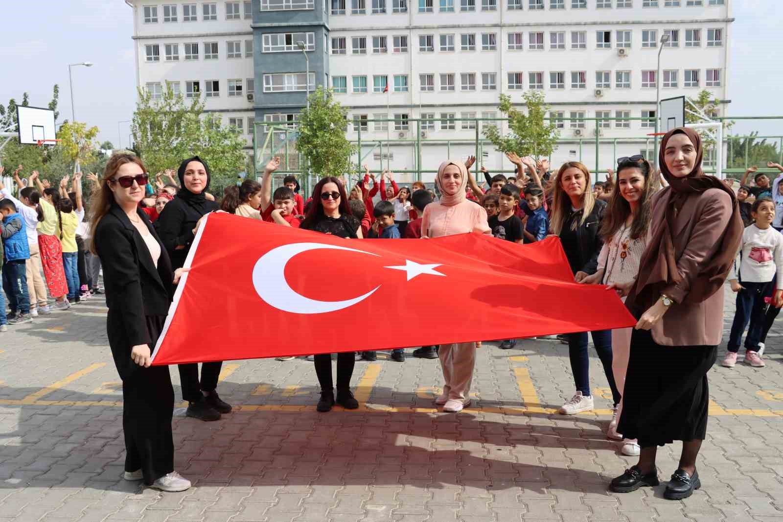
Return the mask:
[[[553,191],[550,228],[552,234],[560,237],[574,280],[581,282],[597,270],[598,254],[604,245],[599,230],[606,203],[595,198],[590,187],[590,171],[579,161],[568,161],[561,166]],[[598,330],[590,334],[612,390],[613,404],[617,406],[620,393],[612,374],[612,331]],[[587,352],[587,332],[571,333],[567,338],[576,393],[559,412],[575,415],[594,408],[590,394],[590,355]]]

